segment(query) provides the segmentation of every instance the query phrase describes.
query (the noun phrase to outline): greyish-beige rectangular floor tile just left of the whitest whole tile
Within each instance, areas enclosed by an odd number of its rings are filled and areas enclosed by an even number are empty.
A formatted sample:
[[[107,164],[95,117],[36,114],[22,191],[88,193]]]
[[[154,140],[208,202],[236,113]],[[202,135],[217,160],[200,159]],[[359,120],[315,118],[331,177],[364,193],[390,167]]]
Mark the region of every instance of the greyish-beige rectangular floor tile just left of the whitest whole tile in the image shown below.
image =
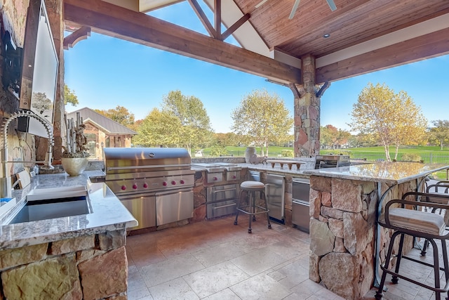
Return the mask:
[[[153,287],[203,268],[204,266],[194,256],[185,254],[143,267],[142,277],[147,287]]]

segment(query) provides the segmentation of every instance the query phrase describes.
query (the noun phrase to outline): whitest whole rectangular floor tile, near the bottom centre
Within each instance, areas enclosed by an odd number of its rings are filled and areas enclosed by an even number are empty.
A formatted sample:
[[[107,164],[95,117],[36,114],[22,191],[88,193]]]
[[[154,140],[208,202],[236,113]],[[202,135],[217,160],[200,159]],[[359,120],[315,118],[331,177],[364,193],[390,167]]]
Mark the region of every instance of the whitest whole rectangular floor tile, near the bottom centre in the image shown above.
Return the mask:
[[[185,275],[183,278],[194,292],[200,298],[203,298],[231,287],[242,280],[246,280],[249,276],[233,263],[225,261],[224,263]]]

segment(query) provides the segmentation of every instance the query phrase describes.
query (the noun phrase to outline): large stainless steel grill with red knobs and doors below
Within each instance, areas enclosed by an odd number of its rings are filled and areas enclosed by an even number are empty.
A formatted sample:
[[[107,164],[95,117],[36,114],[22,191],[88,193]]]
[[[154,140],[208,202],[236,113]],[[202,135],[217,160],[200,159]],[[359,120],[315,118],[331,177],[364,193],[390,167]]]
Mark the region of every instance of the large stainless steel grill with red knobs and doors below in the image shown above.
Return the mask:
[[[184,148],[105,148],[106,184],[141,229],[192,217],[194,173]]]

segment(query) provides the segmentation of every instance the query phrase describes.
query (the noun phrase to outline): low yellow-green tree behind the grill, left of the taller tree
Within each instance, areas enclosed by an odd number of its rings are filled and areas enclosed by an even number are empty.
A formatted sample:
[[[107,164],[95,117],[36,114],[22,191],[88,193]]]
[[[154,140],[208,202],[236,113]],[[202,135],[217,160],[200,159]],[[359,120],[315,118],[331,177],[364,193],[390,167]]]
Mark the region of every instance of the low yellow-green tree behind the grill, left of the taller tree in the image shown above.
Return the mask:
[[[180,119],[154,108],[136,129],[133,144],[142,147],[180,147]]]

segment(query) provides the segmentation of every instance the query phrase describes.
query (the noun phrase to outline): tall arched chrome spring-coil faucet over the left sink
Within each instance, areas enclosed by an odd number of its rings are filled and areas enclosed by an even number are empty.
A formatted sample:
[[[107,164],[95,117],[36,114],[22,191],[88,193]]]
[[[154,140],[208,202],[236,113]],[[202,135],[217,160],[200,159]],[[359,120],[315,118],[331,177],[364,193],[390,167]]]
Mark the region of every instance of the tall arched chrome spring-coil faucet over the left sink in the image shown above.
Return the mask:
[[[8,170],[9,162],[22,162],[22,163],[28,163],[28,162],[35,163],[36,162],[36,161],[18,161],[18,160],[8,161],[8,126],[14,119],[17,119],[19,117],[32,117],[32,118],[38,120],[45,127],[45,129],[47,131],[47,135],[48,135],[48,151],[46,153],[45,161],[43,161],[44,165],[41,167],[41,169],[45,169],[45,170],[55,169],[51,165],[51,159],[52,159],[51,151],[52,151],[53,143],[54,143],[54,141],[53,141],[53,126],[46,119],[39,117],[39,115],[36,115],[32,111],[21,110],[19,112],[14,112],[13,115],[11,115],[11,117],[6,119],[6,121],[3,124],[2,163],[3,163],[4,176],[2,176],[0,178],[0,183],[1,183],[0,197],[11,198],[12,184],[11,184],[11,176],[9,175],[9,170]]]

